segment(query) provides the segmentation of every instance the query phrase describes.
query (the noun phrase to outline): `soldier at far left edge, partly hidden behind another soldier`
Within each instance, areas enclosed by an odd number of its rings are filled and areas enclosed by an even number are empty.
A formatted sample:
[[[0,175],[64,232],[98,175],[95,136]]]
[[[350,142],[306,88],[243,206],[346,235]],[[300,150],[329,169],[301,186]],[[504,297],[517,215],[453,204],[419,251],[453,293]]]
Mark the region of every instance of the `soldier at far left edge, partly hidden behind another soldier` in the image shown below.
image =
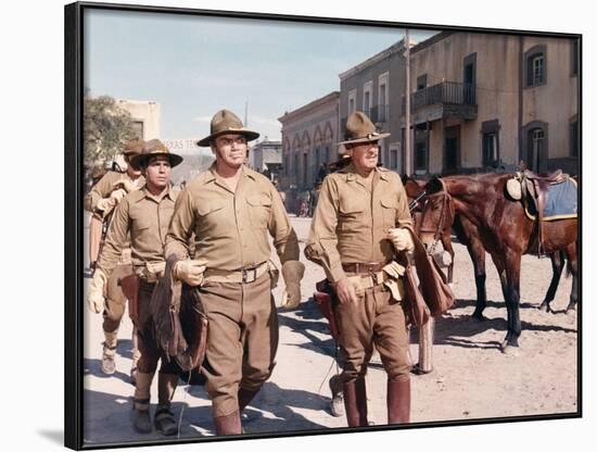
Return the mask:
[[[93,214],[89,224],[90,241],[90,266],[94,268],[98,259],[98,249],[101,238],[102,224],[110,221],[118,202],[131,191],[141,187],[145,179],[141,172],[130,165],[130,159],[139,154],[143,149],[143,141],[128,141],[125,145],[125,162],[127,162],[126,173],[107,172],[85,197],[85,209]],[[118,341],[118,327],[125,313],[126,298],[118,286],[118,279],[130,274],[130,249],[128,246],[123,248],[118,256],[118,265],[112,272],[107,280],[105,301],[90,305],[91,311],[100,313],[103,310],[103,331],[104,344],[101,369],[106,375],[112,375],[116,371],[114,355]],[[137,361],[139,352],[137,347],[137,334],[132,331],[132,367],[130,376],[135,381],[137,372]]]

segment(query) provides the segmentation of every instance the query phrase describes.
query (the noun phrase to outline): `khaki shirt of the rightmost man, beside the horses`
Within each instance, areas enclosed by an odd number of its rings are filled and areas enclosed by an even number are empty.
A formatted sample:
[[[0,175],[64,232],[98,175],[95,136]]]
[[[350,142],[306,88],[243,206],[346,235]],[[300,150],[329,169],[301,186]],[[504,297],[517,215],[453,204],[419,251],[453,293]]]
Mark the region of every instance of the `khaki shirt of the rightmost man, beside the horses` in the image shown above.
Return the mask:
[[[346,276],[342,264],[390,262],[394,248],[385,238],[388,230],[412,225],[399,176],[377,167],[373,177],[371,192],[350,164],[321,186],[305,255],[334,284]]]

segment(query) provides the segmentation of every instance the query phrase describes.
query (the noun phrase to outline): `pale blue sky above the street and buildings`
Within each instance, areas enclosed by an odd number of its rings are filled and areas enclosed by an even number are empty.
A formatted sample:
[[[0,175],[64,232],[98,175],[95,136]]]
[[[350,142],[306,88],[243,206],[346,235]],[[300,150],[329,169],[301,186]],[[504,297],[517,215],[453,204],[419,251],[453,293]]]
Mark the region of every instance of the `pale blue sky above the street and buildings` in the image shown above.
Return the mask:
[[[155,101],[162,139],[202,138],[229,109],[280,139],[277,121],[333,90],[339,74],[404,38],[404,29],[87,10],[90,95]],[[411,30],[421,41],[434,33]]]

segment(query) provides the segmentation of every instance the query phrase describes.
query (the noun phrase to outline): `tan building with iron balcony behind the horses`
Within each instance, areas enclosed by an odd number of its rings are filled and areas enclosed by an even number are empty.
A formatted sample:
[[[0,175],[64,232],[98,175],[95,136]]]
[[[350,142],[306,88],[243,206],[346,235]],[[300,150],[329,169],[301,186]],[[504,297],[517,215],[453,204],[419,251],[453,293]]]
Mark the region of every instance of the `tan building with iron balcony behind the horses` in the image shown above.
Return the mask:
[[[577,174],[576,39],[443,32],[410,54],[415,174]]]

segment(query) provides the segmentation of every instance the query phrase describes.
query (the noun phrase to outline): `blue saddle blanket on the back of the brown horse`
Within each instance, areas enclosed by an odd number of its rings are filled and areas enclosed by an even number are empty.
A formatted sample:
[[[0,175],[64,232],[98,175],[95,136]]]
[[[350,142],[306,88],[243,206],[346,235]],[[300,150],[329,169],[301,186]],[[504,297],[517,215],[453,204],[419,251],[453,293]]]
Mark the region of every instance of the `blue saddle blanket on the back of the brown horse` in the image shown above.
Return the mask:
[[[545,197],[543,219],[546,222],[566,218],[575,218],[579,204],[576,181],[568,178],[566,181],[549,186]],[[525,202],[524,211],[526,216],[535,219],[537,208],[534,202]]]

